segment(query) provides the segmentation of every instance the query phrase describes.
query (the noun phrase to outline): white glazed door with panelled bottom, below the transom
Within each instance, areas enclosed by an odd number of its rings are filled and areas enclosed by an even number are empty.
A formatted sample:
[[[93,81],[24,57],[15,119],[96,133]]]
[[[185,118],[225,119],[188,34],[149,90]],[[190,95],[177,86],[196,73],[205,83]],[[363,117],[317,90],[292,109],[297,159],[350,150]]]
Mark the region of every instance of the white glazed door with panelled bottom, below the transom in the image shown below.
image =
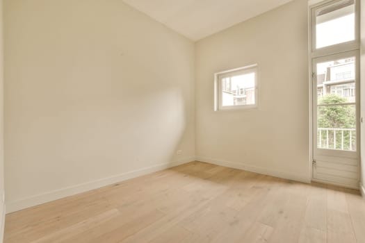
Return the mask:
[[[359,56],[312,60],[313,179],[359,187]]]

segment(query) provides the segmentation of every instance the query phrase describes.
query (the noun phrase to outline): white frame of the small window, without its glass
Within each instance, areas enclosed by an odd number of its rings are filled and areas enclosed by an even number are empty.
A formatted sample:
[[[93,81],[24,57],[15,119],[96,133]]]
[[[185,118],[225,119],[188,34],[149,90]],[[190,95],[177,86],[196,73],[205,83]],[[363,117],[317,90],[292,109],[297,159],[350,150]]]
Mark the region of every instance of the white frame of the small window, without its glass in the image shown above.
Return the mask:
[[[222,106],[222,78],[229,76],[238,76],[242,74],[254,73],[254,104],[239,105],[239,106]],[[259,82],[257,64],[248,65],[245,67],[239,67],[236,69],[230,69],[223,72],[214,74],[214,110],[241,110],[241,109],[253,109],[258,107],[259,97]],[[239,91],[238,91],[239,92]]]

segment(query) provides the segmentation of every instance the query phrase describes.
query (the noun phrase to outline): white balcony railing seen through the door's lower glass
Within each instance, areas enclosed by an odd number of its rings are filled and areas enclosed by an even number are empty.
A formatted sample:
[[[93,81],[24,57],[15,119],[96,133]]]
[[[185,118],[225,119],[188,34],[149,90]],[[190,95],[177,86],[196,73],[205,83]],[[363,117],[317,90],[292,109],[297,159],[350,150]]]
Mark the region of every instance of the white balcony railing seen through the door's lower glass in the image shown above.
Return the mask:
[[[318,148],[354,151],[355,136],[355,128],[317,128]]]

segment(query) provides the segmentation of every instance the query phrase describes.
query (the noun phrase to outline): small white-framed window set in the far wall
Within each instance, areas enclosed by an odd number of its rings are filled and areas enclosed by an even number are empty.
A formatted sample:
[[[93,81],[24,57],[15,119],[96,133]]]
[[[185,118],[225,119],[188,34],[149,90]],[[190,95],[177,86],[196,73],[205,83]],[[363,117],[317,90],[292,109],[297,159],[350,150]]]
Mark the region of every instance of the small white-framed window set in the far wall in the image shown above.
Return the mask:
[[[257,65],[215,74],[215,110],[257,106]]]

